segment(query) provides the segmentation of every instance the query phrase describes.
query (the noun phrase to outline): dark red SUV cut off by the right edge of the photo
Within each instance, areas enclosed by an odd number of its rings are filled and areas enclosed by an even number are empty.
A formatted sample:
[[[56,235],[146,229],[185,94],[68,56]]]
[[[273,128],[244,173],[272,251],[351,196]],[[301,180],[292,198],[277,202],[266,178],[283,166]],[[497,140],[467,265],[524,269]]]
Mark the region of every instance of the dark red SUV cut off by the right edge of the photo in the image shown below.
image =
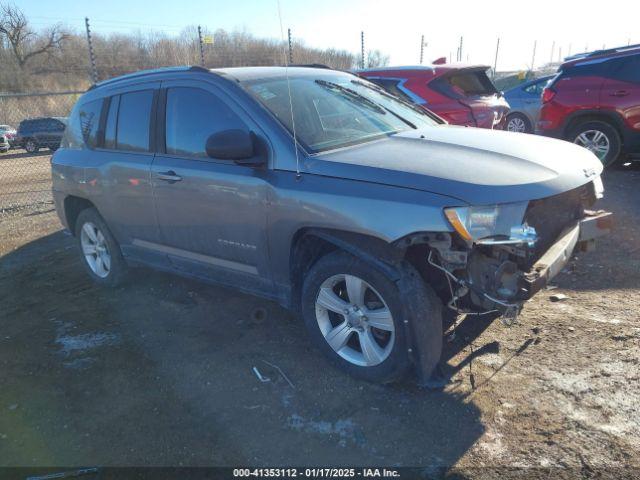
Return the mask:
[[[582,145],[605,165],[640,153],[640,45],[567,60],[542,93],[537,132]]]

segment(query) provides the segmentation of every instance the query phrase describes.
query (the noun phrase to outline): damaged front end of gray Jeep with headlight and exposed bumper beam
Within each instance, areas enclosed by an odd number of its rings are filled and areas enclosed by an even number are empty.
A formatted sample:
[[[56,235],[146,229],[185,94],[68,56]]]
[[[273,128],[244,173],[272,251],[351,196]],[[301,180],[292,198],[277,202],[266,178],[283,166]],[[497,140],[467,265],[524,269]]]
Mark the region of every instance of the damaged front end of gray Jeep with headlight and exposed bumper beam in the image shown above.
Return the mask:
[[[516,321],[524,302],[543,289],[574,252],[591,250],[610,232],[612,214],[593,210],[600,176],[547,198],[444,210],[454,232],[402,240],[425,276],[439,272],[439,293],[457,314],[497,313]],[[437,276],[437,275],[436,275]]]

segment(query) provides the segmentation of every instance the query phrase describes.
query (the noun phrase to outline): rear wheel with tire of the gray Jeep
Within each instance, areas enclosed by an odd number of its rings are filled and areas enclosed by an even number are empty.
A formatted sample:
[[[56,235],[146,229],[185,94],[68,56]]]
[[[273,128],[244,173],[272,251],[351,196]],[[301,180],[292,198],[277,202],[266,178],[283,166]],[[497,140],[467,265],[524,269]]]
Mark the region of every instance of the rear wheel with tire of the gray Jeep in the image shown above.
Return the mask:
[[[91,279],[107,287],[120,285],[126,277],[127,264],[122,257],[120,245],[95,208],[80,212],[75,234],[82,265]],[[91,248],[92,245],[94,248]]]

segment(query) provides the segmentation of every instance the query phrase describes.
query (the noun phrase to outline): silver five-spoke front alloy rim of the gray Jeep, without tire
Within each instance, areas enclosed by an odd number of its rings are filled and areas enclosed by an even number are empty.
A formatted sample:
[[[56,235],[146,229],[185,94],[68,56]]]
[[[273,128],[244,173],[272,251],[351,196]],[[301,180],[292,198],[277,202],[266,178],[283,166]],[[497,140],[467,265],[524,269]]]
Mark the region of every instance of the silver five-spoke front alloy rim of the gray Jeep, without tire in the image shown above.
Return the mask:
[[[393,350],[391,310],[371,285],[354,275],[334,275],[322,283],[316,320],[329,346],[354,365],[379,365]]]

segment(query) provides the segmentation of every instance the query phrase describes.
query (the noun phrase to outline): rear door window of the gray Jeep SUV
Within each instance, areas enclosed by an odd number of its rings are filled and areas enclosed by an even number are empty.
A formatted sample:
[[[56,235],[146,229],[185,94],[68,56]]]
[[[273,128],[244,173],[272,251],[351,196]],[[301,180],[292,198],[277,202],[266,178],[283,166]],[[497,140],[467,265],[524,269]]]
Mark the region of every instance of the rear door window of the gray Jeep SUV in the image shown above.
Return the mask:
[[[125,93],[120,96],[116,148],[132,152],[149,151],[149,124],[153,90]]]

